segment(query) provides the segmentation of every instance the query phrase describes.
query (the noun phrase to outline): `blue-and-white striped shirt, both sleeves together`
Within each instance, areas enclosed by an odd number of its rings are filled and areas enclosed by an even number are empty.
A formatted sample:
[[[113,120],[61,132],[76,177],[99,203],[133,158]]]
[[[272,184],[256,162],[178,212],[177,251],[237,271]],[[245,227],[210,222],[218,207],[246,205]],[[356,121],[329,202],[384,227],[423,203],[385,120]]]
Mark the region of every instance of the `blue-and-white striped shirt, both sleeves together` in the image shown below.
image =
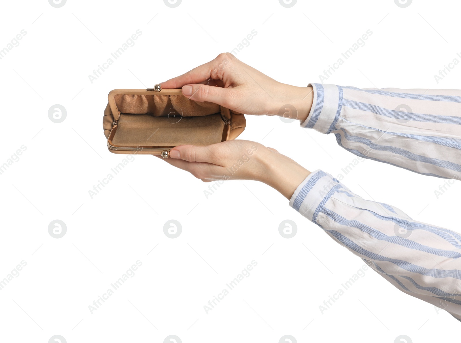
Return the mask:
[[[460,179],[461,91],[311,86],[313,106],[301,127],[334,133],[362,158]],[[290,206],[399,290],[461,321],[460,234],[363,199],[321,170],[298,186]]]

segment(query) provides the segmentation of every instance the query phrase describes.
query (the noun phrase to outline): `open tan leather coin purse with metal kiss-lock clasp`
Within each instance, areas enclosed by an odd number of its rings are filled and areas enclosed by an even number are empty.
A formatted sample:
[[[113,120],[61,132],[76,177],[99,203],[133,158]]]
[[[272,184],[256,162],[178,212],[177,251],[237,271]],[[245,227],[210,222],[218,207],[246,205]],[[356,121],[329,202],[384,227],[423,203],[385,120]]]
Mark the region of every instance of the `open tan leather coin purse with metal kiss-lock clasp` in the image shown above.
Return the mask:
[[[102,121],[107,147],[114,154],[167,158],[172,148],[206,146],[235,139],[246,120],[212,102],[183,96],[181,89],[114,89]]]

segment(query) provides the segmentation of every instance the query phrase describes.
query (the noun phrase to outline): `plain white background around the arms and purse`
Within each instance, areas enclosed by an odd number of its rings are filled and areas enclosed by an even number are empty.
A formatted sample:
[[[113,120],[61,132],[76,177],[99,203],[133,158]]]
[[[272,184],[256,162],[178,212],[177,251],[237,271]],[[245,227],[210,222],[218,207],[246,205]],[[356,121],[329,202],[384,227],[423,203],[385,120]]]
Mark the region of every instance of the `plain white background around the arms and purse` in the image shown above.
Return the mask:
[[[89,190],[125,156],[106,148],[107,93],[145,88],[231,51],[284,83],[306,86],[366,30],[364,47],[327,83],[359,88],[459,88],[461,66],[438,84],[434,74],[458,58],[457,1],[162,0],[3,1],[0,49],[25,30],[0,60],[1,154],[20,159],[0,175],[0,278],[27,266],[0,291],[2,342],[449,342],[459,323],[405,295],[368,269],[323,314],[325,300],[364,264],[257,182],[224,183],[206,199],[202,183],[164,161],[138,155],[95,195]],[[155,17],[155,18],[154,18]],[[154,18],[154,19],[153,19]],[[93,83],[110,53],[142,35]],[[62,123],[48,118],[60,104]],[[337,176],[355,156],[333,135],[247,116],[240,136],[277,148],[307,169]],[[371,160],[343,180],[355,193],[392,204],[412,218],[459,231],[460,183]],[[48,234],[54,219],[64,237]],[[169,219],[182,234],[166,237]],[[295,237],[278,232],[285,219]],[[155,247],[155,248],[154,248]],[[154,248],[154,249],[153,249]],[[153,250],[152,250],[153,249]],[[92,314],[98,296],[140,260],[142,266]],[[252,260],[258,265],[208,314],[203,306]],[[403,341],[402,341],[403,342]]]

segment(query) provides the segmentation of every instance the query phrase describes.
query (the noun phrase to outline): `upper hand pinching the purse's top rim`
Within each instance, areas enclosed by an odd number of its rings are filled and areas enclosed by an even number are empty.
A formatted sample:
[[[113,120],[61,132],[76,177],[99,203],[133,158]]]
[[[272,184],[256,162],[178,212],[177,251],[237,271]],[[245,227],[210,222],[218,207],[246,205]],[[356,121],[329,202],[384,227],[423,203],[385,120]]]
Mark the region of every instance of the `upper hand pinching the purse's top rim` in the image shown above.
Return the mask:
[[[280,83],[236,59],[220,53],[212,61],[161,83],[182,88],[195,101],[210,101],[244,114],[280,115],[306,120],[313,101],[312,87]],[[295,110],[284,105],[294,106]]]

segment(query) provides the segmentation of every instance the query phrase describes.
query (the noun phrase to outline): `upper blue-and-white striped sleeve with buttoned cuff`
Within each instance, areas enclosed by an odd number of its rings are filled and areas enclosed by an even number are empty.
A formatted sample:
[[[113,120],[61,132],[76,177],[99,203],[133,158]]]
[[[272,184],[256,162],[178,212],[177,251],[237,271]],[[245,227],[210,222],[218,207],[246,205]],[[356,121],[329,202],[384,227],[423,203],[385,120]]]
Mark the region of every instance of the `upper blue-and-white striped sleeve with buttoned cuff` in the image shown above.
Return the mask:
[[[334,133],[351,153],[420,174],[461,178],[461,91],[311,83],[301,127]]]

